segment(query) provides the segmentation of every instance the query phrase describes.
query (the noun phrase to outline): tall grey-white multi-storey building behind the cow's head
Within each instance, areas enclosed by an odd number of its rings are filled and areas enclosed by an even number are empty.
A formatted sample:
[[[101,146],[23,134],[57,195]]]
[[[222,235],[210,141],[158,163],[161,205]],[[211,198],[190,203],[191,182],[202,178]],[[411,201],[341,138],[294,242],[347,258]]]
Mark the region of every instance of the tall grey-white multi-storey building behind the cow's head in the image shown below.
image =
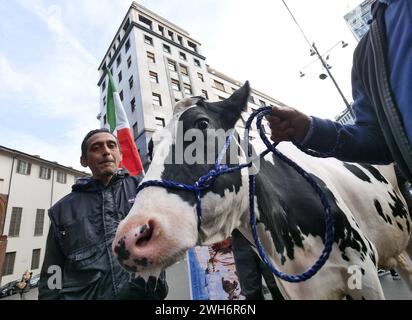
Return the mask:
[[[172,118],[187,96],[210,101],[229,97],[242,84],[210,68],[202,46],[190,34],[133,2],[100,66],[100,119],[107,123],[107,69],[111,70],[144,164],[151,135]],[[253,90],[249,111],[277,100]]]

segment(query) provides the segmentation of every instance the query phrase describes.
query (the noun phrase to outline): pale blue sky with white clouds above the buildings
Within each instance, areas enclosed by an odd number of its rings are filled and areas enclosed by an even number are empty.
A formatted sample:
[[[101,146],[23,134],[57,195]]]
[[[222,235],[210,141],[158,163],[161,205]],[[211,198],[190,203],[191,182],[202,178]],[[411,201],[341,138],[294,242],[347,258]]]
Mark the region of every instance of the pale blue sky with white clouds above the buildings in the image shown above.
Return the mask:
[[[285,0],[309,43],[329,52],[351,102],[356,40],[343,16],[361,0]],[[201,44],[206,63],[311,115],[345,104],[281,0],[140,0]],[[0,0],[0,145],[84,171],[80,144],[99,126],[98,66],[130,0]],[[349,45],[335,46],[340,41]],[[299,71],[306,74],[299,77]],[[87,170],[86,170],[87,171]]]

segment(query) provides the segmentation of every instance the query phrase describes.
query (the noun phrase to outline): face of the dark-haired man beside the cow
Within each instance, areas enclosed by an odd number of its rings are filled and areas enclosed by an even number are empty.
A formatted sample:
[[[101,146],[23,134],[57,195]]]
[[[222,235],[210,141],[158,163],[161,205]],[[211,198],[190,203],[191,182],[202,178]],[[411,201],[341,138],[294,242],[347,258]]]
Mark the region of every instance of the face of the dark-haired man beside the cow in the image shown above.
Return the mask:
[[[80,162],[82,166],[90,168],[93,178],[108,182],[117,172],[121,160],[116,138],[110,133],[101,132],[87,140],[86,157],[81,157]]]

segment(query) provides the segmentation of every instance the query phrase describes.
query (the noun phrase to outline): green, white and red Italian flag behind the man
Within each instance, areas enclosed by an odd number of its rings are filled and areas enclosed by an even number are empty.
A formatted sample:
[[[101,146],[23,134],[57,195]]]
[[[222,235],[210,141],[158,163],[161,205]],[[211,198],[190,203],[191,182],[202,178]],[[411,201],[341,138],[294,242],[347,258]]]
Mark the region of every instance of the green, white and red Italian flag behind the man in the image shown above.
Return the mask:
[[[126,112],[124,111],[120,95],[117,92],[113,77],[110,71],[109,85],[107,88],[107,122],[110,132],[112,132],[120,144],[120,151],[123,154],[123,160],[120,162],[120,167],[127,169],[132,176],[143,172],[143,164],[140,159],[139,152],[132,133],[130,131],[129,121],[127,120]]]

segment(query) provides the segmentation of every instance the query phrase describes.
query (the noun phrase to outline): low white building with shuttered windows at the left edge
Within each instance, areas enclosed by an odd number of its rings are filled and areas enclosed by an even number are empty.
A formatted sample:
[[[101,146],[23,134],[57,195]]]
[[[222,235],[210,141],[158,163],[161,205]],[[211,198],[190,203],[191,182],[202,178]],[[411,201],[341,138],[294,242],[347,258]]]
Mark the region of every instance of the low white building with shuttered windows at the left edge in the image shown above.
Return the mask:
[[[0,285],[40,273],[47,210],[85,172],[0,146]]]

